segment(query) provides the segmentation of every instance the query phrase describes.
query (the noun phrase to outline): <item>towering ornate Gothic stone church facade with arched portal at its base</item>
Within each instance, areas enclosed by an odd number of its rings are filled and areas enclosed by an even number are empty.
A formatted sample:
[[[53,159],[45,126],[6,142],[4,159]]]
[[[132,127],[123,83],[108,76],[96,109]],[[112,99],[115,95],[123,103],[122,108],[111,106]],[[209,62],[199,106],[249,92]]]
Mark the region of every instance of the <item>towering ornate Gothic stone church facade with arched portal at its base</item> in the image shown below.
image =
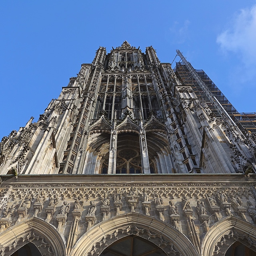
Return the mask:
[[[256,251],[254,133],[177,54],[172,69],[152,46],[100,47],[2,139],[0,255]]]

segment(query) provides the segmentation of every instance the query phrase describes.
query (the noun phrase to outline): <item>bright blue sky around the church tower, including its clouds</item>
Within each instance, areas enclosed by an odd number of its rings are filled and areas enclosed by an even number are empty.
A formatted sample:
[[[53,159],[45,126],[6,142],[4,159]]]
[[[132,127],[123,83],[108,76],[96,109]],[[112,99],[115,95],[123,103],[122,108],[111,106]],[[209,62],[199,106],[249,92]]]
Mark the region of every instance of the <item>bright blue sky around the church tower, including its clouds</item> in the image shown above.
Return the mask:
[[[124,40],[152,45],[161,62],[179,49],[239,112],[256,111],[256,0],[14,0],[0,10],[0,139],[36,122],[99,46]]]

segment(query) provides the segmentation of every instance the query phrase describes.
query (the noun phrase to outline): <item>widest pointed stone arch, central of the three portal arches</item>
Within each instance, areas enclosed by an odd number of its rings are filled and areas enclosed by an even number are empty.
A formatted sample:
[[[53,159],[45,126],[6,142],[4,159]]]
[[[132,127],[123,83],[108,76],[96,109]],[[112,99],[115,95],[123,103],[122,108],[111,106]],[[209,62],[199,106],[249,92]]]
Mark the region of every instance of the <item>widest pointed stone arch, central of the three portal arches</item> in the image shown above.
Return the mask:
[[[168,255],[198,256],[190,240],[176,228],[137,212],[121,214],[97,224],[76,242],[71,254],[98,256],[110,244],[130,235],[149,240]]]

